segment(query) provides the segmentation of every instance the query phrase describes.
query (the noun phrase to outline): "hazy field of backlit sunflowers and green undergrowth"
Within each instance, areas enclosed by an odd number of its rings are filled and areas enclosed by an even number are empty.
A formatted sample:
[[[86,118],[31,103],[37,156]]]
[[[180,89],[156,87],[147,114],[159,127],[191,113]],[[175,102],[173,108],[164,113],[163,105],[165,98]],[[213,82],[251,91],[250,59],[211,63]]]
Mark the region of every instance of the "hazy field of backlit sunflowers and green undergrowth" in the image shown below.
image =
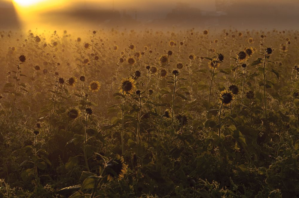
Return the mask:
[[[299,197],[298,34],[0,32],[0,197]]]

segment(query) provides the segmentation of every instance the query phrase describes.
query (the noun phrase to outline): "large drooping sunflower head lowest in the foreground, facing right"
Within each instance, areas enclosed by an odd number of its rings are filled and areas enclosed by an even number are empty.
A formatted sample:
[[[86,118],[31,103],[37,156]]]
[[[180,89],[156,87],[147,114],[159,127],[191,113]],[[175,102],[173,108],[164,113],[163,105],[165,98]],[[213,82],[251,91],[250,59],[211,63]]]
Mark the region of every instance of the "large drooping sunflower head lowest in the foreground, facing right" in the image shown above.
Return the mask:
[[[107,180],[111,181],[114,178],[121,180],[128,171],[128,165],[124,163],[123,157],[116,155],[115,158],[109,160],[105,166],[107,171]]]

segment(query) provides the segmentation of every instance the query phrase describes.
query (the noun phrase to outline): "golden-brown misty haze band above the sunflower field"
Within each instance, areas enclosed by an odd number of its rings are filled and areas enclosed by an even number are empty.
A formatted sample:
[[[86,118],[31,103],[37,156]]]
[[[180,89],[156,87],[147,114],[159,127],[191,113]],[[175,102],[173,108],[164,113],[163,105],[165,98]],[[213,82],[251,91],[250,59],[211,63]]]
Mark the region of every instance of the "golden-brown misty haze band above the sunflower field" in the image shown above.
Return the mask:
[[[0,25],[69,30],[78,27],[296,29],[298,8],[296,0],[0,0]]]

